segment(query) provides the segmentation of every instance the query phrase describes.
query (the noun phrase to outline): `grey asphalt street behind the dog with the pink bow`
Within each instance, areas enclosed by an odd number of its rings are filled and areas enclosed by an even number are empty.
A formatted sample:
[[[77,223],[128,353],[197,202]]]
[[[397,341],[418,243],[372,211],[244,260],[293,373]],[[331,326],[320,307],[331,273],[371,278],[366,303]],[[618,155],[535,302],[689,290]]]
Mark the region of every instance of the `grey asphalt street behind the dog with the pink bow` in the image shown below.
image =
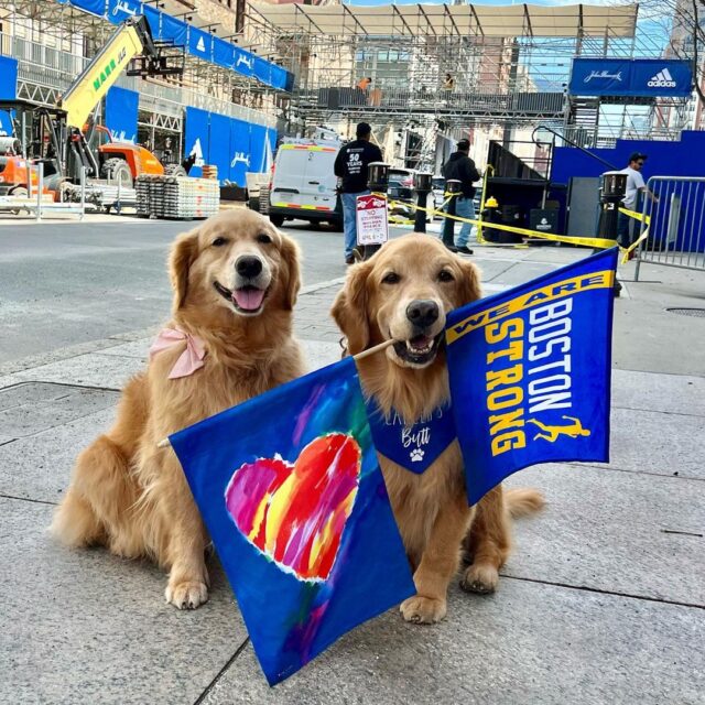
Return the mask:
[[[0,226],[0,369],[158,325],[171,305],[169,246],[192,227],[132,218]],[[304,251],[304,284],[345,274],[340,232],[303,224],[288,232]]]

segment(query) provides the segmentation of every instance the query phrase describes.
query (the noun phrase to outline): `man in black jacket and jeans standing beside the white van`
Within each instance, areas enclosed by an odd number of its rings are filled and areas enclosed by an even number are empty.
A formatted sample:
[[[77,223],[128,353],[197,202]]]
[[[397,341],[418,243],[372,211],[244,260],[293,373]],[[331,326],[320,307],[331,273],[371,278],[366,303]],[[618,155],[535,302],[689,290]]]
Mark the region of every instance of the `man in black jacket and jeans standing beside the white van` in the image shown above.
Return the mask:
[[[340,180],[340,200],[343,202],[343,224],[345,229],[345,263],[355,262],[354,250],[357,245],[357,197],[369,194],[367,187],[367,165],[381,162],[379,147],[370,144],[372,128],[367,122],[357,126],[357,140],[348,142],[335,158],[334,172]],[[368,246],[365,253],[375,246]]]

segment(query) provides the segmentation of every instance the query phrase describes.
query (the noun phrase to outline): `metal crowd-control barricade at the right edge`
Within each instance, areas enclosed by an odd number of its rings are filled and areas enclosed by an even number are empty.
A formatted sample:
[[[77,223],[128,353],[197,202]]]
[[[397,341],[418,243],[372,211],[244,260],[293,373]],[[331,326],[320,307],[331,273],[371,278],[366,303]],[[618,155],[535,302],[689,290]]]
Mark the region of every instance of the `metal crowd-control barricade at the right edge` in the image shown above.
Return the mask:
[[[642,262],[705,270],[705,178],[652,176],[644,196],[634,280]]]

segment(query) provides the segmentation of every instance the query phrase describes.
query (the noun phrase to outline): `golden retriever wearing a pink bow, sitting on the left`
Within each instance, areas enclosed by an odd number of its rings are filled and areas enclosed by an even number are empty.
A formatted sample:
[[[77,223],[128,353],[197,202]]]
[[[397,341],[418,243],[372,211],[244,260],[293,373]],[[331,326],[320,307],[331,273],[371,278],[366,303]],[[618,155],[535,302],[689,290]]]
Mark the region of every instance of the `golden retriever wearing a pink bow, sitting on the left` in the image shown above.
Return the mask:
[[[170,271],[167,328],[193,338],[167,343],[128,382],[113,427],[78,456],[52,530],[72,546],[153,558],[170,571],[166,600],[183,609],[208,598],[208,538],[175,454],[156,444],[303,373],[292,337],[299,249],[262,216],[221,213],[178,237]],[[200,368],[174,378],[194,349]]]

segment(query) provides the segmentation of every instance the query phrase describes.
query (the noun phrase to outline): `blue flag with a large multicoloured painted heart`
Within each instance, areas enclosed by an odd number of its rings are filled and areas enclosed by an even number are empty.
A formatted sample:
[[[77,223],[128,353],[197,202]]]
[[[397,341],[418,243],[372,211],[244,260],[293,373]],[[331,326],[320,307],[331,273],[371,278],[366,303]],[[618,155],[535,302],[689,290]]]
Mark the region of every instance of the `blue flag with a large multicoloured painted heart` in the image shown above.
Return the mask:
[[[270,684],[413,595],[351,359],[170,440]]]

